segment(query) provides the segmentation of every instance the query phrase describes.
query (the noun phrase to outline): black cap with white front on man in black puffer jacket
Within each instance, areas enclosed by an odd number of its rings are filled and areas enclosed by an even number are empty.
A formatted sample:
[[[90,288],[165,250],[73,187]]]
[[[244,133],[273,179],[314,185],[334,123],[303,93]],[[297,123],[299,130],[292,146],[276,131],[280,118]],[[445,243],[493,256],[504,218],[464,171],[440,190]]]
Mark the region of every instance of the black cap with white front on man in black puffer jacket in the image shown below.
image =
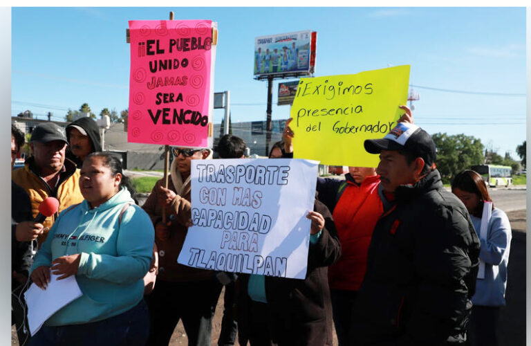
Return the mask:
[[[382,150],[412,152],[422,158],[428,167],[436,159],[434,140],[426,131],[410,122],[398,122],[384,138],[365,140],[364,147],[371,154],[380,154]]]

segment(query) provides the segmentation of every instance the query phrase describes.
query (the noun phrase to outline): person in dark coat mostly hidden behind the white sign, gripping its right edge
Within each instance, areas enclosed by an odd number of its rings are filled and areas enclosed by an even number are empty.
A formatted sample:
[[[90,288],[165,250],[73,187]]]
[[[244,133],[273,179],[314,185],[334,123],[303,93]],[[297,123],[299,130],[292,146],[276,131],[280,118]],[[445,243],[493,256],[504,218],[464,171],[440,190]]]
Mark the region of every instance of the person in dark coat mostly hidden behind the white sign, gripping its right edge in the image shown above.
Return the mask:
[[[270,158],[274,158],[274,148],[281,149],[275,143]],[[328,266],[339,259],[341,246],[332,215],[323,203],[315,199],[314,210],[306,217],[312,222],[305,280],[239,275],[240,345],[332,345],[327,272]]]

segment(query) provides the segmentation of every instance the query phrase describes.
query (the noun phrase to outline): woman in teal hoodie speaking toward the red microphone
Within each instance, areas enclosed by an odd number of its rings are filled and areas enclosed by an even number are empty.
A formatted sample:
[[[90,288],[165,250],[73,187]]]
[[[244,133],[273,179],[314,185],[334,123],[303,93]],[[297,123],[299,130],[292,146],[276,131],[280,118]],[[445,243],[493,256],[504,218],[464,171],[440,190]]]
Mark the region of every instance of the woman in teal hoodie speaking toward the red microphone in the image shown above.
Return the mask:
[[[30,346],[138,345],[148,336],[142,277],[153,251],[153,225],[135,205],[117,156],[89,154],[80,173],[82,203],[61,212],[32,265],[41,289],[50,272],[75,275],[82,296],[55,312]]]

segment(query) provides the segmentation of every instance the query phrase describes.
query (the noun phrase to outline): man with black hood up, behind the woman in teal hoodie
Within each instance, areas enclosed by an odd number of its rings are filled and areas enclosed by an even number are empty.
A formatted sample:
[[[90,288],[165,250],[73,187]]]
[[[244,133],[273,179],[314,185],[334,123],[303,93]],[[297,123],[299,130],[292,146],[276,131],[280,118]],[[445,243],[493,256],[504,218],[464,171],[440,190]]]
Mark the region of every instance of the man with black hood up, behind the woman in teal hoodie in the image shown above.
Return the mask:
[[[68,143],[70,143],[70,148],[66,151],[66,157],[74,161],[77,168],[81,168],[88,154],[102,151],[100,128],[88,116],[71,122],[66,127],[66,138]]]

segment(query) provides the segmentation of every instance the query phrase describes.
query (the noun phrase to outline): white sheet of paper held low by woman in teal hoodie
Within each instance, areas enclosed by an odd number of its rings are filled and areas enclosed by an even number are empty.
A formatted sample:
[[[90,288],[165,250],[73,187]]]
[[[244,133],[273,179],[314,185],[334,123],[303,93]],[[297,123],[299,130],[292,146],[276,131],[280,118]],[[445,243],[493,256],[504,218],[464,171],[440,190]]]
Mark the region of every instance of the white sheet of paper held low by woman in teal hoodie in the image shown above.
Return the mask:
[[[50,283],[45,290],[36,284],[31,284],[28,291],[24,293],[26,305],[28,305],[28,325],[32,336],[41,329],[50,316],[83,294],[75,280],[75,275],[57,280],[59,276],[50,273]]]

